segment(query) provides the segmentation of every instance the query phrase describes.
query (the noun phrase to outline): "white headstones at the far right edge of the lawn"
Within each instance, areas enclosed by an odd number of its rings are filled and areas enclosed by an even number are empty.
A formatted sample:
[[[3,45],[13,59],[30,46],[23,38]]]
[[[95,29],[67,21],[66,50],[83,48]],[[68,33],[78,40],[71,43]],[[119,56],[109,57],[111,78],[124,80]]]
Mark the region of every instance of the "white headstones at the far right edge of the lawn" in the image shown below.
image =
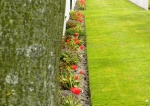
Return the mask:
[[[144,9],[148,10],[149,0],[129,0],[129,1],[133,2],[137,6],[140,6],[140,7],[144,8]]]

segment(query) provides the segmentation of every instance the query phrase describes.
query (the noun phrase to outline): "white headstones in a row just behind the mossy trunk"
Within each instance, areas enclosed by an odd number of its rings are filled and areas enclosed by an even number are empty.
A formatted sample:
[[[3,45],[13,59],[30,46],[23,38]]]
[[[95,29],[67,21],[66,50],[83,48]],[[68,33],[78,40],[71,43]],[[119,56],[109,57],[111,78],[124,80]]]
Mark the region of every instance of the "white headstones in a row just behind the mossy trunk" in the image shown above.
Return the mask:
[[[65,20],[64,20],[64,29],[63,34],[66,31],[66,22],[69,20],[69,13],[70,11],[74,10],[75,4],[77,0],[66,0],[66,9],[65,9]]]

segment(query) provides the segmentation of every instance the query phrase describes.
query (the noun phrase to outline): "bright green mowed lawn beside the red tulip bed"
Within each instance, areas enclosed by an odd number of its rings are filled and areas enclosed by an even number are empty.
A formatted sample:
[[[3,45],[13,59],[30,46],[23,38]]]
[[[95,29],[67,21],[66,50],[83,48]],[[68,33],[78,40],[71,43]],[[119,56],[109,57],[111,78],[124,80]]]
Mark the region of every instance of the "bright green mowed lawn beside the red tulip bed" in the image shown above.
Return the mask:
[[[128,0],[86,5],[92,105],[149,106],[150,11]]]

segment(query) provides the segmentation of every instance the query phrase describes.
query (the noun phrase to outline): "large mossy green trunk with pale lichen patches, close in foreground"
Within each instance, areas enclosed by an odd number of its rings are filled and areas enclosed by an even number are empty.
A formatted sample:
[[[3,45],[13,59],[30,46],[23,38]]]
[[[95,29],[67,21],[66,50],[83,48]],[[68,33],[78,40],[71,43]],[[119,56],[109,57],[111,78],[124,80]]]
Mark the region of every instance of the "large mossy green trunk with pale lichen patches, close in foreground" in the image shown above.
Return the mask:
[[[0,106],[57,106],[64,0],[0,1]]]

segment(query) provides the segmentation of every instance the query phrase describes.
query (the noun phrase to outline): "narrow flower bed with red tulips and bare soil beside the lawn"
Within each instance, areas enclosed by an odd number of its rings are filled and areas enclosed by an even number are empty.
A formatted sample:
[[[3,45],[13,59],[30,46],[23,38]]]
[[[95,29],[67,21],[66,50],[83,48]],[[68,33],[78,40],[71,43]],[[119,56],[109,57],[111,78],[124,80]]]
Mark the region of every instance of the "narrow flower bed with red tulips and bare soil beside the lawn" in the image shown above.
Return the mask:
[[[85,1],[78,0],[70,12],[60,57],[59,103],[61,106],[91,106],[86,60],[84,15]]]

